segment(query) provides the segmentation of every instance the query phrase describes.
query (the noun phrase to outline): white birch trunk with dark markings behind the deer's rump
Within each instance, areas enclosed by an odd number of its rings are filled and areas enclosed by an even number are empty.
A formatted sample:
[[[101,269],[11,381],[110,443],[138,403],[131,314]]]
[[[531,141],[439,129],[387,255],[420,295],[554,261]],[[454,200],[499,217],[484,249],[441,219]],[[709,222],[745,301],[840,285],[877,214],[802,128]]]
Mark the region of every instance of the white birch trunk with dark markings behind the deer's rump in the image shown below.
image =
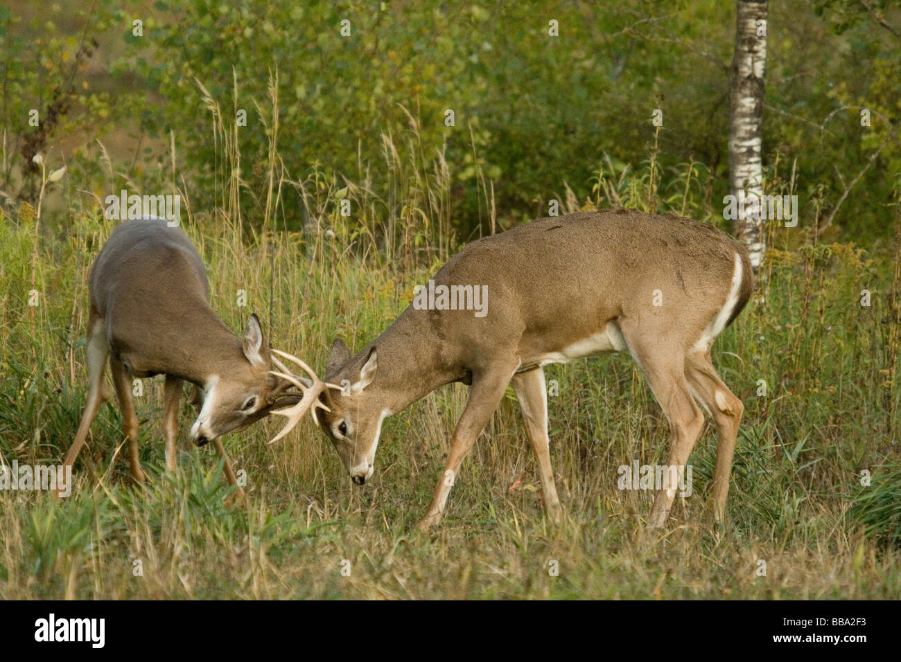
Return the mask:
[[[729,71],[729,187],[739,200],[763,195],[760,142],[763,77],[767,68],[767,0],[736,0],[735,55]],[[739,205],[742,210],[743,205]],[[760,206],[758,206],[760,209]],[[735,219],[735,236],[751,253],[754,271],[766,252],[763,214]],[[753,216],[753,214],[751,214]]]

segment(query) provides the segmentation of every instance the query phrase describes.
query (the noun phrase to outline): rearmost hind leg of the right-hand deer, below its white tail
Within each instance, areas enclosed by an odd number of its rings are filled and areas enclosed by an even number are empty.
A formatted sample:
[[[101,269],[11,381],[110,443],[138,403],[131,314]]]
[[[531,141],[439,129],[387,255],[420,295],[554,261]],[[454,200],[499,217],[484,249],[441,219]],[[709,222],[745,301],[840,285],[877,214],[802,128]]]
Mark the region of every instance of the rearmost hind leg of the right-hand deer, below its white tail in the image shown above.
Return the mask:
[[[735,440],[742,420],[744,405],[724,384],[710,361],[710,352],[696,352],[687,357],[686,376],[692,391],[716,423],[716,467],[714,469],[714,517],[722,521],[729,476],[732,472]]]

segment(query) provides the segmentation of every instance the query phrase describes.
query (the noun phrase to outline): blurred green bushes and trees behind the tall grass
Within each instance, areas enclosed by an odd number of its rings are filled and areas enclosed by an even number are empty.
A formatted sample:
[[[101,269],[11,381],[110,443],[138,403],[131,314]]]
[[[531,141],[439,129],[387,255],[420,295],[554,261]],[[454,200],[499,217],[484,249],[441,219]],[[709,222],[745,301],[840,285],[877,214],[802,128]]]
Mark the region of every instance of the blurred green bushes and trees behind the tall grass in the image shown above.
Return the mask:
[[[897,5],[769,8],[765,190],[790,189],[801,224],[829,218],[820,230],[830,238],[869,245],[891,232],[901,173]],[[559,37],[549,36],[551,19]],[[340,35],[343,20],[350,36]],[[38,151],[79,183],[57,195],[86,205],[87,192],[177,186],[195,210],[223,207],[224,161],[226,171],[240,168],[233,211],[259,228],[274,132],[277,181],[341,190],[346,178],[369,189],[387,224],[422,227],[405,204],[402,189],[415,186],[406,175],[447,177],[447,199],[421,208],[447,205],[460,240],[490,231],[492,210],[504,228],[547,215],[552,198],[609,199],[601,182],[623,184],[652,154],[661,206],[679,211],[689,167],[690,194],[708,209],[728,193],[730,0],[13,2],[0,8],[0,47],[7,209],[35,203]],[[232,119],[241,109],[244,130]],[[240,163],[228,162],[232,147]],[[296,199],[279,210],[279,227],[310,222],[303,191],[283,194]]]

